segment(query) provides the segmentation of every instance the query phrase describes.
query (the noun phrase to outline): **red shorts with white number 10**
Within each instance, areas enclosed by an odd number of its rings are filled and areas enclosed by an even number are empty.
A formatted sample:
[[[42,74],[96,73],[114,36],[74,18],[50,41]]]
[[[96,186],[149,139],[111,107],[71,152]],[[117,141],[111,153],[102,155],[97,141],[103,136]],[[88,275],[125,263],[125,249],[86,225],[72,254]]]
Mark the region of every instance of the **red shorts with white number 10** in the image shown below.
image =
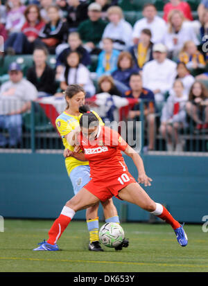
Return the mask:
[[[93,179],[84,186],[90,193],[98,197],[102,202],[115,196],[119,198],[119,190],[122,190],[131,183],[136,183],[135,178],[130,172],[125,171],[121,175],[116,175],[110,179],[101,179],[94,181]]]

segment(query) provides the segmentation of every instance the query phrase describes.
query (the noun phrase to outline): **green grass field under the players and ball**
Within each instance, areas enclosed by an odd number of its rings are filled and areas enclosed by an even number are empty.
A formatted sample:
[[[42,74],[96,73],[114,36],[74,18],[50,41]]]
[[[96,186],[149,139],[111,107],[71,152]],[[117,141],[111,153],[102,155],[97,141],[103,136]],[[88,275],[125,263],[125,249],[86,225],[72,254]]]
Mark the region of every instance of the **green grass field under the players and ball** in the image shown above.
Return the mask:
[[[130,240],[116,252],[88,251],[85,222],[72,221],[59,240],[62,251],[32,251],[48,238],[51,220],[5,220],[0,233],[0,272],[207,272],[207,233],[185,225],[187,247],[180,247],[167,224],[122,224]],[[100,226],[103,223],[100,223]]]

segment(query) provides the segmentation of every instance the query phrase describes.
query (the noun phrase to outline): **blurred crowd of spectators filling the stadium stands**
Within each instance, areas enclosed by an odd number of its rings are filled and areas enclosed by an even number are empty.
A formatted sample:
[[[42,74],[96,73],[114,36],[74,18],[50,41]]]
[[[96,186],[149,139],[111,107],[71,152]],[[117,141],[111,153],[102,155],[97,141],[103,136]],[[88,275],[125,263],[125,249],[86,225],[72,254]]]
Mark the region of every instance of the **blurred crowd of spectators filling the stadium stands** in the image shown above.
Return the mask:
[[[21,141],[21,114],[30,100],[64,98],[69,84],[85,88],[104,121],[118,120],[114,111],[125,107],[123,98],[138,102],[120,119],[141,119],[144,100],[146,150],[155,150],[159,133],[166,150],[182,151],[180,130],[191,120],[192,132],[208,131],[208,0],[199,0],[195,17],[189,1],[164,1],[162,13],[157,1],[145,1],[133,24],[125,17],[127,2],[144,1],[0,1],[1,57],[33,57],[26,75],[12,62],[1,82],[0,129],[8,129],[10,140],[0,133],[0,147]],[[46,62],[49,55],[55,68]]]

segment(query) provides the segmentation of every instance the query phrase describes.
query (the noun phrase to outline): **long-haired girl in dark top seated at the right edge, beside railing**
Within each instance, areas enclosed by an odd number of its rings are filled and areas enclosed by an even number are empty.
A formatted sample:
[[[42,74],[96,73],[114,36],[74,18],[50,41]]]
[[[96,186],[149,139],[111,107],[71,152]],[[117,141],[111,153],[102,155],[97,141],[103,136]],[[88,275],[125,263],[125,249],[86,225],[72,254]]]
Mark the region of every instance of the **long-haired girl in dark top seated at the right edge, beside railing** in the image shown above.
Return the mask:
[[[187,114],[196,125],[196,131],[208,129],[208,92],[202,82],[194,82],[186,105]]]

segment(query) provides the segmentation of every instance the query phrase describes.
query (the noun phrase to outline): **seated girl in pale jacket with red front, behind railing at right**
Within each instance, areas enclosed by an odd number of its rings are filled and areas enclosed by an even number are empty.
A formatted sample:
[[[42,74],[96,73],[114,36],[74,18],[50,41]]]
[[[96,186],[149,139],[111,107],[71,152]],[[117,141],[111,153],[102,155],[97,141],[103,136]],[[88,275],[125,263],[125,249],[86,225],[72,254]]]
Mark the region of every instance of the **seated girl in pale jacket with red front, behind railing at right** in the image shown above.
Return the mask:
[[[187,94],[184,93],[184,85],[181,80],[175,80],[171,94],[162,108],[161,125],[159,127],[162,137],[166,139],[166,149],[168,151],[182,151],[182,142],[178,132],[183,127],[187,127],[186,103]]]

